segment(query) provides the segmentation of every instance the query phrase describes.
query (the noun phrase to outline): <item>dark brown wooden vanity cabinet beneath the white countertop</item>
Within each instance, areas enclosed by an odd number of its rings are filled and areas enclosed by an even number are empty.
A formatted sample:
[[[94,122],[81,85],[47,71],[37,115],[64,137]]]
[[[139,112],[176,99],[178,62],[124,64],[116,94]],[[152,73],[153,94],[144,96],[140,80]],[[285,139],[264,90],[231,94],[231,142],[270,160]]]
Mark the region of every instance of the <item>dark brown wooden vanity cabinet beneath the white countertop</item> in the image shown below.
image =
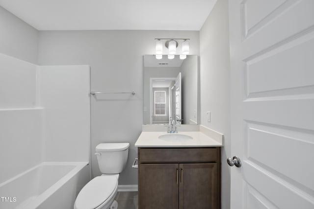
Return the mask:
[[[220,209],[220,147],[138,148],[138,209]]]

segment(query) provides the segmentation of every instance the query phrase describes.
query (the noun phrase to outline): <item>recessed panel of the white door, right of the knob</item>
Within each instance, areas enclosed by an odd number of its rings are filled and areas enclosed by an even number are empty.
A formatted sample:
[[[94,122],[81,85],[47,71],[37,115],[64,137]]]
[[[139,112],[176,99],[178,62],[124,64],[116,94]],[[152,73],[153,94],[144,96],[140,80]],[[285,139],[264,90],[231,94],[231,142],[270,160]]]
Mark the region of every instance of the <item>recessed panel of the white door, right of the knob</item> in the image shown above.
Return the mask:
[[[248,123],[246,130],[248,160],[267,165],[283,179],[288,177],[304,189],[314,190],[314,181],[309,181],[313,178],[313,168],[304,160],[314,159],[313,135],[257,123]],[[279,147],[283,147],[280,152]]]

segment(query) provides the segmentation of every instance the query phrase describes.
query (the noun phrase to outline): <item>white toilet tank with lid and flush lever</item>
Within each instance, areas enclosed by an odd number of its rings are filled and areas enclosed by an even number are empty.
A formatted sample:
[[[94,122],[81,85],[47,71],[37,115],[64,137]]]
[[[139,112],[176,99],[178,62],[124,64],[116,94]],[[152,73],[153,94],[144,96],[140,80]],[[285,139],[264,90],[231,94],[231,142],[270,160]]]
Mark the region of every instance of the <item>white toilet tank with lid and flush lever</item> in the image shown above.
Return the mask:
[[[128,161],[130,143],[101,143],[96,146],[97,161],[103,174],[121,173]]]

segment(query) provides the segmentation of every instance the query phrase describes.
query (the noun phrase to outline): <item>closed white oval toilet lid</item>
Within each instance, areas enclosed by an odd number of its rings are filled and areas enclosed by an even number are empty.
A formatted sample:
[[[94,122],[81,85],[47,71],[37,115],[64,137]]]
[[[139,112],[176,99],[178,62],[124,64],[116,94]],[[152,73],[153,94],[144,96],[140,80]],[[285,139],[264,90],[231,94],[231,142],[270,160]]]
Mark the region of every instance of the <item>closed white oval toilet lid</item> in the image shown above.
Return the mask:
[[[76,209],[95,209],[102,205],[116,190],[118,180],[114,176],[98,176],[85,185],[75,201]]]

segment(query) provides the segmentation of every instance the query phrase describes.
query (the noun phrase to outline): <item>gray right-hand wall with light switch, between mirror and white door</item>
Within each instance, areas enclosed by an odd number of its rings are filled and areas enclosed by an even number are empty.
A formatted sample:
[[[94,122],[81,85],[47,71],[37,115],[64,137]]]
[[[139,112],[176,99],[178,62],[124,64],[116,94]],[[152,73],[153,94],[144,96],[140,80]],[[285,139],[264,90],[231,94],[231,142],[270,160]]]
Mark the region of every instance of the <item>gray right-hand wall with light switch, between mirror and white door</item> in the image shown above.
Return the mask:
[[[224,134],[222,209],[230,208],[230,62],[228,0],[218,0],[200,31],[201,124]],[[211,112],[207,121],[206,112]]]

